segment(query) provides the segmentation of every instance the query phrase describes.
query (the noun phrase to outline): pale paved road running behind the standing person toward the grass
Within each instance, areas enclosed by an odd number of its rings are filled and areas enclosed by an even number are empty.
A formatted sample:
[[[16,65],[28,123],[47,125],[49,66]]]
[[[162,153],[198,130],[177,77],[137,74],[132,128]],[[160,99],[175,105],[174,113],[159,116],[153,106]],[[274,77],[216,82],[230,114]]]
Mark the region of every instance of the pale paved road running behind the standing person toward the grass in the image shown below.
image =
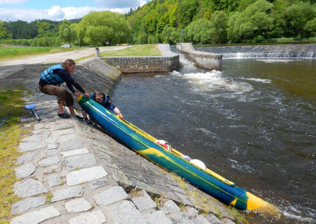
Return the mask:
[[[125,49],[127,46],[113,46],[113,47],[100,47],[100,52],[103,51],[113,51]],[[17,59],[17,60],[9,60],[0,62],[0,80],[1,78],[7,77],[16,73],[17,71],[21,71],[25,68],[26,65],[41,65],[41,64],[49,64],[49,63],[61,63],[66,59],[76,60],[82,57],[87,57],[89,55],[95,54],[94,48],[84,48],[78,49],[78,51],[69,51],[62,52],[56,54],[48,54],[48,55],[38,55],[31,56],[27,58]]]

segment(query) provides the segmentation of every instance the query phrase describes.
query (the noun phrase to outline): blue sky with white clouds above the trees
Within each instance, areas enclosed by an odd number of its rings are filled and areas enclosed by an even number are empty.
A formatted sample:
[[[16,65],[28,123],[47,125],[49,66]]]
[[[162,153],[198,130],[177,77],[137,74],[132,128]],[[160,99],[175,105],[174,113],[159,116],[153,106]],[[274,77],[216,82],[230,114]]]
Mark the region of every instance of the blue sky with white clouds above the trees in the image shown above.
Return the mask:
[[[82,18],[90,11],[110,10],[125,13],[146,0],[0,0],[0,20],[31,22],[35,19]]]

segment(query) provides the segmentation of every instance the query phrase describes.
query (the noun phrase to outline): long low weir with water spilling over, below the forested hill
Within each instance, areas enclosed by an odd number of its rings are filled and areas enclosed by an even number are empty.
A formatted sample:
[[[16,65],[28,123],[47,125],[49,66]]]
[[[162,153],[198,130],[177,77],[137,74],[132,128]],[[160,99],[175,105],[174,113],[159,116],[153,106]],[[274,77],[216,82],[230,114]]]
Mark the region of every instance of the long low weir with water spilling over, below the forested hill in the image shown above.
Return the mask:
[[[222,54],[222,58],[316,58],[316,44],[203,47],[195,50]]]

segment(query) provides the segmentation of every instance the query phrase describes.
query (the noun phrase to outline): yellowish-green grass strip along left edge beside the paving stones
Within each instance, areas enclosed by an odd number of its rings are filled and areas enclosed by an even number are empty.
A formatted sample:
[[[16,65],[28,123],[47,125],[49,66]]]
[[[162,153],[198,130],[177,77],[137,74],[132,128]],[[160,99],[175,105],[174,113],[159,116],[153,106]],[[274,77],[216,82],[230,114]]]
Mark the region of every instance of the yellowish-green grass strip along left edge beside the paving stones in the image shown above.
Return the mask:
[[[18,197],[13,195],[13,184],[18,180],[14,162],[23,154],[17,152],[21,134],[28,132],[18,124],[19,117],[27,112],[22,93],[23,89],[0,89],[0,123],[4,123],[0,127],[0,224],[10,223],[10,209],[18,201]]]

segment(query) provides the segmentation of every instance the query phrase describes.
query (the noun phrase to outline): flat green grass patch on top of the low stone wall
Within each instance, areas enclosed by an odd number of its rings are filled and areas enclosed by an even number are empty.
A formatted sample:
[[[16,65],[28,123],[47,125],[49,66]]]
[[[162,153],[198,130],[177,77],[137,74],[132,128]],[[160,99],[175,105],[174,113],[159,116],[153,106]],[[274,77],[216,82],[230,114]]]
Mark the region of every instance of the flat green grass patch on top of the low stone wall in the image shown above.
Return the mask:
[[[156,44],[134,45],[128,49],[117,51],[104,51],[100,53],[101,57],[124,57],[124,56],[161,56]]]

